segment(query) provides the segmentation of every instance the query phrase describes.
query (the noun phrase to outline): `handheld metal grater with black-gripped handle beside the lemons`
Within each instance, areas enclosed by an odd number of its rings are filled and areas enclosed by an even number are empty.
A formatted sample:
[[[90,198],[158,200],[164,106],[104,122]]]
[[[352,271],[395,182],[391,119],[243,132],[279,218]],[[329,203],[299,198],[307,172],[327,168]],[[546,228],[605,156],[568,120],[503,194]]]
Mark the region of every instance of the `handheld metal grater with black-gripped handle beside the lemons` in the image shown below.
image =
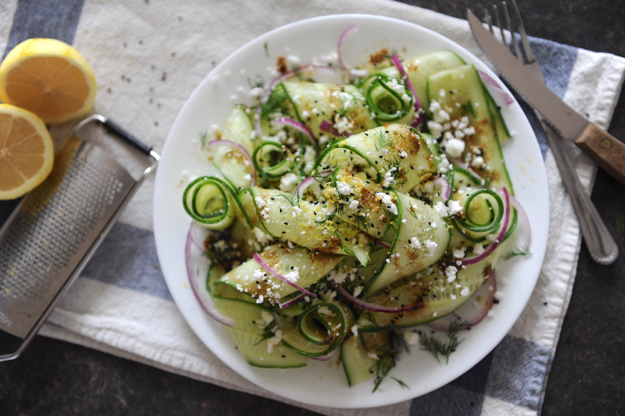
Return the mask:
[[[103,148],[78,139],[93,122],[146,156],[150,164],[137,179]],[[99,114],[69,132],[52,173],[0,228],[0,361],[24,351],[159,159]]]

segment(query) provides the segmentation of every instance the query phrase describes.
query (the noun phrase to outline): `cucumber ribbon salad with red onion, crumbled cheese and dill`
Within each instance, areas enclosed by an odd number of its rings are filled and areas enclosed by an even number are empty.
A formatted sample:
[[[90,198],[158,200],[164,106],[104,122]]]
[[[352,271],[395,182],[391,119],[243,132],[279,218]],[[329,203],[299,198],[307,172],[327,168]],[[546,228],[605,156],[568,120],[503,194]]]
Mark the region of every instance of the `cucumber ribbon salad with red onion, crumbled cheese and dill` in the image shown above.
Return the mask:
[[[376,390],[410,347],[444,365],[498,302],[498,263],[528,254],[511,236],[530,233],[493,80],[448,50],[352,66],[353,30],[333,62],[279,58],[254,104],[198,132],[218,174],[186,185],[185,250],[250,365],[333,360]]]

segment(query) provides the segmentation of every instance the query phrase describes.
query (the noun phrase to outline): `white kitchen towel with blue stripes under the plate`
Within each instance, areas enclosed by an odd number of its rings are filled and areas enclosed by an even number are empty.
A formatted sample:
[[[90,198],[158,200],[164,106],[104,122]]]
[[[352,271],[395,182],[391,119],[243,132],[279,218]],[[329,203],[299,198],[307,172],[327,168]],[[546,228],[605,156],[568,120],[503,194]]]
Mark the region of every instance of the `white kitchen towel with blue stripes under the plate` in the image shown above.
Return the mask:
[[[98,80],[94,111],[157,151],[186,98],[215,64],[258,35],[292,21],[365,11],[396,17],[437,31],[488,62],[466,21],[394,1],[273,0],[256,1],[254,13],[240,12],[246,9],[245,0],[8,0],[0,3],[0,48],[6,53],[28,37],[73,44]],[[622,86],[625,59],[547,40],[534,39],[534,44],[549,87],[606,128]],[[64,137],[70,127],[55,126],[51,132]],[[537,135],[549,177],[552,224],[561,226],[549,231],[534,294],[491,354],[423,397],[383,408],[337,410],[276,397],[229,370],[189,329],[166,287],[152,234],[153,178],[143,184],[41,333],[325,415],[536,415],[581,244],[552,154],[539,131]],[[595,166],[581,155],[577,166],[590,188]]]

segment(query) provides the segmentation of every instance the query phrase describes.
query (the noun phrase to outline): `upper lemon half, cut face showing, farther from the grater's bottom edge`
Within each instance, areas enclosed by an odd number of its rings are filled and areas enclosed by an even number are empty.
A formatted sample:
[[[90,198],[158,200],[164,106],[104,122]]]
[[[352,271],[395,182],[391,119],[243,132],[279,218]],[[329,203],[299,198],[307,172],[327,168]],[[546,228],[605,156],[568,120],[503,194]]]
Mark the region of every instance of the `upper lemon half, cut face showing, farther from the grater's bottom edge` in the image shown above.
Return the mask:
[[[0,101],[33,112],[44,123],[76,119],[91,110],[95,98],[87,60],[60,40],[25,40],[0,64]]]

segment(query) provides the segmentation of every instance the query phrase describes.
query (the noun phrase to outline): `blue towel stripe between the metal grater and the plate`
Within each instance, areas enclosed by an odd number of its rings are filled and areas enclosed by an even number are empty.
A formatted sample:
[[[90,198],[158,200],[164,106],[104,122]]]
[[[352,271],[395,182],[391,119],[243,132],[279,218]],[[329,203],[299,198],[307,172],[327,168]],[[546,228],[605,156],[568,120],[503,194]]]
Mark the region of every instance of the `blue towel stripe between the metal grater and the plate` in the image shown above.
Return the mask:
[[[172,300],[157,258],[154,234],[133,225],[113,225],[81,276]]]

